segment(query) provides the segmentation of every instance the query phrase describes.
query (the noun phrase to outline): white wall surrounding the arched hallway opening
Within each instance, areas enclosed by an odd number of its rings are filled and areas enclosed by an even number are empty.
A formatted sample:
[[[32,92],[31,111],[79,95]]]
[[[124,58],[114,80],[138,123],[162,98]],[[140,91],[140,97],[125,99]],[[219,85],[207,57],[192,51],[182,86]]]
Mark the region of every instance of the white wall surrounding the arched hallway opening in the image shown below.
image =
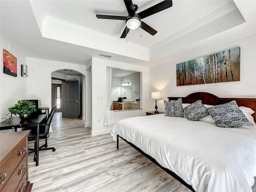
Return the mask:
[[[85,85],[85,123],[91,124],[91,73],[86,71],[86,66],[78,64],[70,64],[64,62],[56,62],[49,60],[41,60],[36,58],[27,58],[28,70],[30,71],[27,77],[27,99],[41,99],[41,106],[51,108],[51,76],[52,72],[61,69],[76,70],[86,76]]]

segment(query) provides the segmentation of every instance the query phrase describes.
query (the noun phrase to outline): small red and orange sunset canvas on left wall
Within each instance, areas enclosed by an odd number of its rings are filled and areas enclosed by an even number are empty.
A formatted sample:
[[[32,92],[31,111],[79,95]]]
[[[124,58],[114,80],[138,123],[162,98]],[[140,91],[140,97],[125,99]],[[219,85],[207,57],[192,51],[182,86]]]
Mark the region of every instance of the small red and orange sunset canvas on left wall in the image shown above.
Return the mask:
[[[3,49],[4,73],[17,77],[17,58]]]

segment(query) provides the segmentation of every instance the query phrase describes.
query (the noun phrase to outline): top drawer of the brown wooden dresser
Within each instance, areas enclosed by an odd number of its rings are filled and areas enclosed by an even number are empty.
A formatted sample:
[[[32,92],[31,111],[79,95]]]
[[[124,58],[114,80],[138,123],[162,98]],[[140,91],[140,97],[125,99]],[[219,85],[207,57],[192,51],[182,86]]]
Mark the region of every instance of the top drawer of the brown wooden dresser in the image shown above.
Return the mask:
[[[17,165],[20,163],[22,158],[26,156],[27,154],[27,146],[26,146],[26,138],[21,140],[18,145],[14,147],[14,149],[10,152],[8,158],[2,162],[1,161],[1,173],[6,173],[6,178],[4,180],[4,183],[0,186],[0,190],[2,191],[2,188],[6,185],[8,180],[10,179],[11,174],[16,169]],[[25,165],[26,165],[26,158],[25,159]],[[3,176],[1,176],[1,180],[3,179]],[[15,190],[15,189],[14,189]],[[10,191],[9,191],[10,192]]]

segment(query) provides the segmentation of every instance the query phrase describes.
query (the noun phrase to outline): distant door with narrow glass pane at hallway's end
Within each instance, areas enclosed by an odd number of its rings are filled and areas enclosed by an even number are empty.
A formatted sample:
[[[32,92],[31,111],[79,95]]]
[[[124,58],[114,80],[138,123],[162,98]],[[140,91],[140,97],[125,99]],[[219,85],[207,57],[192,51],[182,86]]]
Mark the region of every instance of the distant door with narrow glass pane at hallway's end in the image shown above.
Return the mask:
[[[52,107],[57,105],[56,112],[62,112],[62,84],[52,84]]]

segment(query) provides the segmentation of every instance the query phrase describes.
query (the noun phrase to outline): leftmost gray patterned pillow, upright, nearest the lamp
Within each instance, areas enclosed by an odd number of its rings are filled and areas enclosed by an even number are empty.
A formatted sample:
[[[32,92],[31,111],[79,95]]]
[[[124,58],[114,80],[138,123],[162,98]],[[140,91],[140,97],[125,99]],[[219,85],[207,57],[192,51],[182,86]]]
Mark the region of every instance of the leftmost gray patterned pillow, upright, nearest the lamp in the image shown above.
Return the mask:
[[[182,98],[164,101],[165,116],[183,117]]]

